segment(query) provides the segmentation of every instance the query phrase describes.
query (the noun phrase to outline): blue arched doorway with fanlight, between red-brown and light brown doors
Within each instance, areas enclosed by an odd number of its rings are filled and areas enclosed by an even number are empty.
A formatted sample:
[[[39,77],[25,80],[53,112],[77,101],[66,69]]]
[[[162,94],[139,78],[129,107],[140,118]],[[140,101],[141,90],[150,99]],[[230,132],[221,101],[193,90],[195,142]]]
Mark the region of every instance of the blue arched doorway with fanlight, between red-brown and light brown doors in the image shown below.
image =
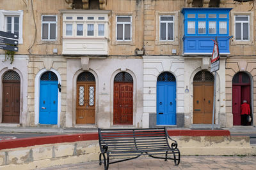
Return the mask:
[[[157,78],[157,125],[176,125],[176,79],[172,73]]]

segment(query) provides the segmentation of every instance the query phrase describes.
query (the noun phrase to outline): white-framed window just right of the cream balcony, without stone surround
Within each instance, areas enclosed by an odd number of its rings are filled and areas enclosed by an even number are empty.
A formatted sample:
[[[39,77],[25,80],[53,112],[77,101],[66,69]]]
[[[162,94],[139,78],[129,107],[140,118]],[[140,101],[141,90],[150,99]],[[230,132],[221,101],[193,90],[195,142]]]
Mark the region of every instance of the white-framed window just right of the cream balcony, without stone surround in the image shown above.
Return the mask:
[[[131,40],[131,16],[116,17],[116,39],[117,40]]]

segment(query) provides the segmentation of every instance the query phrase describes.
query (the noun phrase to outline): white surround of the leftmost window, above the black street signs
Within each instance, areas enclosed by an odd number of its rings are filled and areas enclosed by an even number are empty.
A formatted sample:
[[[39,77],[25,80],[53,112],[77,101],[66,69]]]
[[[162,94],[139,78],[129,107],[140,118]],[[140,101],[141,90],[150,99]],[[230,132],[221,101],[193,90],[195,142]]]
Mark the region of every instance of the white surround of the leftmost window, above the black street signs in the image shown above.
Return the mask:
[[[0,10],[0,30],[6,31],[5,16],[19,16],[19,44],[23,44],[23,11],[6,11]]]

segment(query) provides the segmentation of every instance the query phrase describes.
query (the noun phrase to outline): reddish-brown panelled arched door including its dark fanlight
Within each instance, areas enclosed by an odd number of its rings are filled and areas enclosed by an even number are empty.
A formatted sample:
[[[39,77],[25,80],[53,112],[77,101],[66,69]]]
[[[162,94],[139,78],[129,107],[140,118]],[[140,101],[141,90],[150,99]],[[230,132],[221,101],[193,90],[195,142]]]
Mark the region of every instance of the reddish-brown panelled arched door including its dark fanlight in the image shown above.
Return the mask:
[[[131,74],[120,72],[114,78],[113,124],[133,123],[133,79]]]

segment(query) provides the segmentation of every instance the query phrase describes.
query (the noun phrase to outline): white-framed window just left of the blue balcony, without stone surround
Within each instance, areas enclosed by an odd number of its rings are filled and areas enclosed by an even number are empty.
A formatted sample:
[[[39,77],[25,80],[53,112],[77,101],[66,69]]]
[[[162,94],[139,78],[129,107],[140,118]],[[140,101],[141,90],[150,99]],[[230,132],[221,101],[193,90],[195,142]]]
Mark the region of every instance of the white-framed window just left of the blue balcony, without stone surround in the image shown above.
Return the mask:
[[[160,40],[173,40],[174,17],[160,16]]]

